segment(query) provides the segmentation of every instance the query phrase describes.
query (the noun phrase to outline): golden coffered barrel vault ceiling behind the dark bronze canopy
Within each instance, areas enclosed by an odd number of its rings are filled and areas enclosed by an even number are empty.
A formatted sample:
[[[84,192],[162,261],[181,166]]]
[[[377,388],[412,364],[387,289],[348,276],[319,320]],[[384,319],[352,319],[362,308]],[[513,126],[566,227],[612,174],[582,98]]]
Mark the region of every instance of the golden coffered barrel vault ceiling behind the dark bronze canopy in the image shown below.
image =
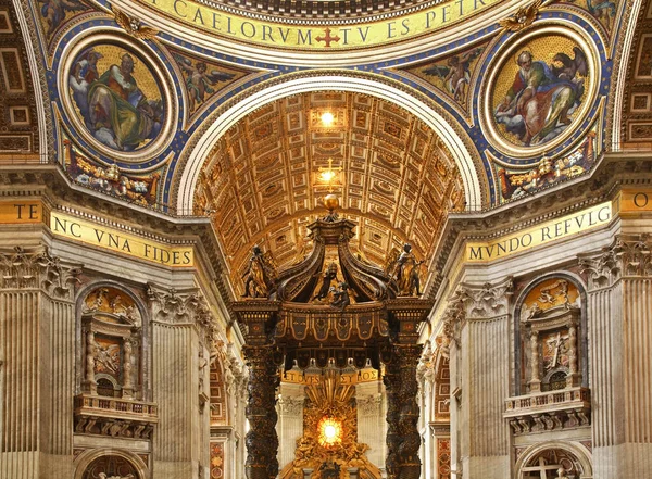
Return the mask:
[[[325,112],[334,115],[329,126]],[[331,188],[319,179],[329,159]],[[336,91],[285,98],[239,122],[205,160],[195,204],[212,215],[237,287],[254,244],[279,267],[310,251],[305,226],[326,214],[330,189],[339,213],[359,223],[359,252],[380,265],[404,242],[430,255],[447,212],[464,205],[455,163],[421,119]]]

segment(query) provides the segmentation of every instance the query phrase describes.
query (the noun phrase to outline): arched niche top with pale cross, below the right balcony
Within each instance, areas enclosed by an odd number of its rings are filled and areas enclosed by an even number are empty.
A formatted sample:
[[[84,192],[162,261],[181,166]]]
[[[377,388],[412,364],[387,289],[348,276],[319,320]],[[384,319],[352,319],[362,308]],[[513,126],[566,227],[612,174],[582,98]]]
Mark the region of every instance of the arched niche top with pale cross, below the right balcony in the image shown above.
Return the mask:
[[[589,450],[581,443],[566,441],[550,441],[529,446],[518,456],[514,474],[514,479],[590,479],[592,477],[593,468]]]

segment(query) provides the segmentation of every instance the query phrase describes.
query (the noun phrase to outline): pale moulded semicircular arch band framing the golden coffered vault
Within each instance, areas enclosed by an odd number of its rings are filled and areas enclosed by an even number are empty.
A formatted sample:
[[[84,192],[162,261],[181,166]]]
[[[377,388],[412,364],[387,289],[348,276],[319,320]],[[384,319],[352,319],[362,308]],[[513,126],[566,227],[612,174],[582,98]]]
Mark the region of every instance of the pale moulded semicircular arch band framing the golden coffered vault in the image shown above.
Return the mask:
[[[393,84],[393,81],[392,81]],[[344,76],[342,74],[321,74],[292,78],[255,93],[243,97],[241,101],[224,112],[217,112],[204,122],[208,125],[200,130],[195,139],[195,146],[189,149],[186,157],[181,159],[180,177],[177,180],[177,212],[191,211],[195,188],[204,161],[213,147],[226,131],[255,110],[274,101],[314,91],[346,91],[369,94],[389,101],[414,114],[435,131],[450,151],[464,185],[464,197],[467,205],[480,209],[488,202],[486,199],[486,179],[480,178],[482,171],[478,152],[473,148],[457,122],[439,109],[428,104],[394,85],[378,81],[365,75]]]

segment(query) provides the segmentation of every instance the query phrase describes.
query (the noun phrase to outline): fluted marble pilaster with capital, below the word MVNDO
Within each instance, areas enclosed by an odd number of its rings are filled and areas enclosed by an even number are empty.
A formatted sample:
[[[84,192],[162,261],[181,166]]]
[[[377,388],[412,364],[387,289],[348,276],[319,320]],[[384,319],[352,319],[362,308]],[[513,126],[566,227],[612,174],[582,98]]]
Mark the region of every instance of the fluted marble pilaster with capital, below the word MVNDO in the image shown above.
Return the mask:
[[[444,318],[444,333],[453,343],[451,373],[456,375],[451,403],[461,405],[451,434],[456,458],[452,467],[464,477],[502,479],[510,470],[509,427],[502,414],[509,396],[511,295],[511,278],[462,283]]]

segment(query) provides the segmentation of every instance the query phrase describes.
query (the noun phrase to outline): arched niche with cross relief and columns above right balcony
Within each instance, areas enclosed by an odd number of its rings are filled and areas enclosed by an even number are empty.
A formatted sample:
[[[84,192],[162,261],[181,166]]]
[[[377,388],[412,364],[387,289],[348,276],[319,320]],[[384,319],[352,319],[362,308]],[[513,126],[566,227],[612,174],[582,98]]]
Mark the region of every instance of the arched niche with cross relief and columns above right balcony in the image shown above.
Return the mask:
[[[516,394],[588,386],[586,293],[579,278],[552,273],[516,302]]]

